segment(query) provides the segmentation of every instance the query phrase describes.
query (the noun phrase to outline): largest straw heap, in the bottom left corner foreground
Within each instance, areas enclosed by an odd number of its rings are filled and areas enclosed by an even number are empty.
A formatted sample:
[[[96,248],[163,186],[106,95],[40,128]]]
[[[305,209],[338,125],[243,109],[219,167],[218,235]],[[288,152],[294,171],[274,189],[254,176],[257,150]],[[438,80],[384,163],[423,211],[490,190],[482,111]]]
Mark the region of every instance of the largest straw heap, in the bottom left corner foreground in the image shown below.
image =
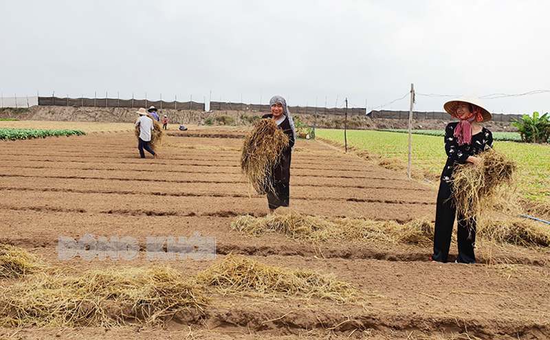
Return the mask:
[[[43,274],[4,289],[0,326],[155,325],[205,304],[196,284],[168,267]]]

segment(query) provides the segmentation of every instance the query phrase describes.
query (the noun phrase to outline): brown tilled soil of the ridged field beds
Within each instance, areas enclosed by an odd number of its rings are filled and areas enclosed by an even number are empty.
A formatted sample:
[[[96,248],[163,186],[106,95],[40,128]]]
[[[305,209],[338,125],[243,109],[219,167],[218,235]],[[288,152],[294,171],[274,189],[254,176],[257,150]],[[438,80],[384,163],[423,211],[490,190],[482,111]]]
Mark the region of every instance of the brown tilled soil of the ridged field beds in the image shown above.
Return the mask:
[[[165,328],[0,328],[0,339],[549,339],[550,251],[480,241],[478,264],[428,260],[430,246],[243,236],[235,216],[267,213],[239,167],[245,129],[170,131],[159,159],[132,132],[2,142],[0,241],[74,273],[166,264],[195,275],[229,253],[333,273],[360,302],[214,296],[206,316]],[[281,214],[407,222],[435,214],[436,189],[318,141],[297,141]],[[216,238],[216,260],[58,260],[58,236]],[[142,249],[143,250],[143,249]],[[451,248],[456,258],[456,244]],[[2,285],[10,284],[2,282]]]

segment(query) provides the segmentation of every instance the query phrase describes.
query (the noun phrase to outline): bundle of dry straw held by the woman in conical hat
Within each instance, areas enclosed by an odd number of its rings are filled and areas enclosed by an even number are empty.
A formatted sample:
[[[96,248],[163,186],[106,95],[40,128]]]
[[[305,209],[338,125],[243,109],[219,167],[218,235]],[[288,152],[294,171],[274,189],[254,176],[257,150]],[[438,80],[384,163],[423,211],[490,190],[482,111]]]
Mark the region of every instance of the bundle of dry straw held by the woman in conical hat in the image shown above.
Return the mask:
[[[478,157],[482,159],[481,166],[461,164],[451,178],[452,199],[456,210],[465,218],[480,217],[483,212],[491,211],[514,190],[514,161],[494,149],[482,152]]]

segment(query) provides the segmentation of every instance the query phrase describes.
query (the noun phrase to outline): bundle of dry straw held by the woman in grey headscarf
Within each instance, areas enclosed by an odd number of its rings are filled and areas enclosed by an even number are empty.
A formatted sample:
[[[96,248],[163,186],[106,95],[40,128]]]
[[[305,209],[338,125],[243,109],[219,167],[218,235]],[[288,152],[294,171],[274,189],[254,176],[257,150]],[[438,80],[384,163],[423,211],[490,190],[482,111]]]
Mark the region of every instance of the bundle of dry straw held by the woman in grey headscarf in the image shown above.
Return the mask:
[[[241,169],[248,183],[258,194],[272,190],[273,168],[287,145],[287,135],[269,118],[259,120],[246,136],[241,155]]]

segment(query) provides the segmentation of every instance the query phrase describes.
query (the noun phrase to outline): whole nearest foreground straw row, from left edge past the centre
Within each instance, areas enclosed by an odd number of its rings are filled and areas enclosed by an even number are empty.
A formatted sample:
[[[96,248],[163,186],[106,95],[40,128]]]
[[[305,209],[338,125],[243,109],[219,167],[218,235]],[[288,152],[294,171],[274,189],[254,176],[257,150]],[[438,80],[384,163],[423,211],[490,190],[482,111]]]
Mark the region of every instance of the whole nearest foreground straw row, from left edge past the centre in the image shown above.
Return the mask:
[[[15,247],[7,252],[12,262],[34,257]],[[271,267],[232,255],[196,277],[185,277],[169,267],[115,267],[78,276],[53,270],[23,272],[27,273],[23,281],[0,291],[1,327],[198,322],[206,315],[203,308],[210,306],[207,294],[212,292],[269,299],[317,297],[335,302],[350,302],[361,296],[334,275]]]

